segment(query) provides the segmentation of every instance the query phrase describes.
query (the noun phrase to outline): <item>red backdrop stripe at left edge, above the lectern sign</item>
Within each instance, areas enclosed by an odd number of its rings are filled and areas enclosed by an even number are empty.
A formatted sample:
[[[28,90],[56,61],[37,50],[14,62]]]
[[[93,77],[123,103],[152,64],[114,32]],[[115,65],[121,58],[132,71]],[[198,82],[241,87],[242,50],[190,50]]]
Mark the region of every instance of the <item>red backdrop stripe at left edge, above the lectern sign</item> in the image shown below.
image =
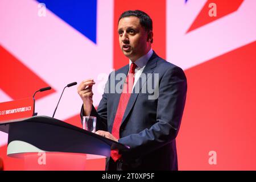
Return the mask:
[[[36,90],[49,86],[2,46],[0,46],[0,60],[0,88],[14,100],[32,97]],[[36,98],[42,98],[54,92],[52,88],[38,94]]]

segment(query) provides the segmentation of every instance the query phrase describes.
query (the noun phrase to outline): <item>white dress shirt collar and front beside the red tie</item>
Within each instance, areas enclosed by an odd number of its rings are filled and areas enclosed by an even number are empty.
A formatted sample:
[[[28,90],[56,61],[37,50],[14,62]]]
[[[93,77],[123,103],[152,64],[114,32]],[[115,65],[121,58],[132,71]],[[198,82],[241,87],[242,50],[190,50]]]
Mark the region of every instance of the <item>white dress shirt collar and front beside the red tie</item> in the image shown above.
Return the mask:
[[[147,61],[150,59],[152,54],[153,54],[153,50],[150,49],[150,51],[148,51],[146,55],[141,56],[141,57],[139,57],[139,59],[134,61],[134,63],[137,65],[137,67],[135,68],[133,88],[134,88],[134,85],[136,84],[136,82],[138,81],[139,77],[141,76],[143,69],[146,67]],[[131,63],[133,63],[133,61],[129,60],[129,71],[131,69]]]

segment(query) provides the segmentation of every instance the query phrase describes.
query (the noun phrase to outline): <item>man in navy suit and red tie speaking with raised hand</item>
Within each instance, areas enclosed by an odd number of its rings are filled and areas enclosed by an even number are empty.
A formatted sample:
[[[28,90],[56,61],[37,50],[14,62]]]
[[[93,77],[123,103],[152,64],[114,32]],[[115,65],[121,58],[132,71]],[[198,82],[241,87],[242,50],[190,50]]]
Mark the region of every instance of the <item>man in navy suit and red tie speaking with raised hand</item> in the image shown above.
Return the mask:
[[[175,138],[187,93],[185,74],[152,51],[152,20],[143,11],[122,13],[118,35],[129,64],[110,73],[97,111],[95,82],[81,82],[81,116],[96,116],[96,134],[130,146],[111,152],[107,170],[177,170]]]

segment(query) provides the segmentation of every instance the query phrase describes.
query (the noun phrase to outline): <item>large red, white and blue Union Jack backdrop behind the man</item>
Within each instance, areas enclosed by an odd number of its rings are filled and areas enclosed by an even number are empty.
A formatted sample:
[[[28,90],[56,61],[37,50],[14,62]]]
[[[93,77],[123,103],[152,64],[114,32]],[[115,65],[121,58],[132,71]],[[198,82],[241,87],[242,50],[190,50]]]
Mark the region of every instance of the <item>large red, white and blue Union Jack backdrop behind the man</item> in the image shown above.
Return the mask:
[[[1,0],[0,102],[51,86],[35,104],[38,115],[51,116],[65,85],[94,78],[97,106],[105,75],[129,63],[117,22],[130,9],[151,16],[154,51],[187,76],[179,169],[256,170],[255,0]],[[81,104],[76,86],[68,88],[55,118],[81,127]],[[6,148],[0,131],[5,169],[22,170],[22,160],[7,157]]]

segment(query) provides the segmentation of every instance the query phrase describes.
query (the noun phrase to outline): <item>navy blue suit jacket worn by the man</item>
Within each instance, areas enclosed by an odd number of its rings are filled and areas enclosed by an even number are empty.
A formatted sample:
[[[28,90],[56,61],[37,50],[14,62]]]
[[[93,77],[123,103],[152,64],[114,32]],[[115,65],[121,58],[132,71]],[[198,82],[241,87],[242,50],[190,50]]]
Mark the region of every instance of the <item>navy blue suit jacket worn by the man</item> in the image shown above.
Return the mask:
[[[110,73],[97,111],[93,107],[90,114],[97,117],[96,130],[112,132],[121,93],[111,93],[110,82],[115,78],[114,75],[127,75],[128,71],[129,64]],[[155,52],[148,60],[143,73],[159,74],[159,86],[151,86],[156,91],[159,87],[159,96],[156,99],[148,99],[152,94],[142,92],[147,83],[152,81],[152,77],[137,81],[135,86],[138,86],[139,93],[131,94],[119,130],[118,142],[130,146],[130,150],[119,151],[122,160],[117,163],[109,158],[106,163],[107,170],[177,170],[175,138],[187,93],[185,74],[181,68],[163,60]],[[121,80],[122,84],[124,81]],[[118,82],[119,80],[114,80],[115,85]]]

